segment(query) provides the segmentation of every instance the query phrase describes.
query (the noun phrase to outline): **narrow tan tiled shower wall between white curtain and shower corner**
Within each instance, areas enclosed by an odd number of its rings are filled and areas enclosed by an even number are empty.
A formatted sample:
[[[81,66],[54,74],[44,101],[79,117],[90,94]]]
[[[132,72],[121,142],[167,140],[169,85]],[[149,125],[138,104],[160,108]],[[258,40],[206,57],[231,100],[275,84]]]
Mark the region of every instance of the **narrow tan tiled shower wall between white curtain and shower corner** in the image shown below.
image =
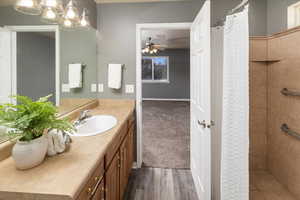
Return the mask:
[[[267,40],[250,39],[250,169],[267,168]]]

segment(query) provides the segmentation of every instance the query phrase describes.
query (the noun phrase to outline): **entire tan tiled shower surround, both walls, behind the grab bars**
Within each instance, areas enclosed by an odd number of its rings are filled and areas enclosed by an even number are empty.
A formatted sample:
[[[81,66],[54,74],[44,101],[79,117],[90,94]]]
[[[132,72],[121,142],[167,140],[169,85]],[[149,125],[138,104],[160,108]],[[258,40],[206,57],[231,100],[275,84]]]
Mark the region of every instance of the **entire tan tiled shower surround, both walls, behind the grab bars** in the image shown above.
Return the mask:
[[[283,133],[283,123],[300,133],[300,28],[250,40],[250,168],[268,170],[300,199],[300,140]]]

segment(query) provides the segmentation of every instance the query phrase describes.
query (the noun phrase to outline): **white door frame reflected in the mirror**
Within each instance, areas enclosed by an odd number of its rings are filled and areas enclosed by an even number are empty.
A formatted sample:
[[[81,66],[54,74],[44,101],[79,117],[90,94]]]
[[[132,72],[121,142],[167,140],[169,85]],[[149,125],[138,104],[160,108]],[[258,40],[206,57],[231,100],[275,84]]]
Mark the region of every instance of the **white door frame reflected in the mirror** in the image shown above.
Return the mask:
[[[58,25],[5,26],[12,32],[12,95],[17,94],[17,32],[55,32],[55,105],[60,103],[60,31]]]

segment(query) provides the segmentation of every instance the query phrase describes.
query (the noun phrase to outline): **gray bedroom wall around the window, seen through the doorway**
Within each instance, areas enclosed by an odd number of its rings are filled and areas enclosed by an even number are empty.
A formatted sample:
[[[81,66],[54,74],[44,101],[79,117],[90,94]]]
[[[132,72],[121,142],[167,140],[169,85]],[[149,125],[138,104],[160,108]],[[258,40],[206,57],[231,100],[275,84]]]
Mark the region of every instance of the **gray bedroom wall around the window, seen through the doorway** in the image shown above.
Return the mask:
[[[190,51],[188,49],[165,50],[158,56],[169,56],[170,83],[143,83],[143,98],[190,98]]]

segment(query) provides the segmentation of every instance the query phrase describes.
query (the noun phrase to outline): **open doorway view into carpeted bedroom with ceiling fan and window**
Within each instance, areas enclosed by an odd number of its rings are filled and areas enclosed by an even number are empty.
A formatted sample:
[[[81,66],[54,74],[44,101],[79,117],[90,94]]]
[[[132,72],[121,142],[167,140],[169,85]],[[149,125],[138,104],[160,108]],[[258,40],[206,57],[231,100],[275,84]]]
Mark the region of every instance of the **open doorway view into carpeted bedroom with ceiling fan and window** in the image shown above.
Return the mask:
[[[141,34],[142,165],[190,169],[190,31]]]

